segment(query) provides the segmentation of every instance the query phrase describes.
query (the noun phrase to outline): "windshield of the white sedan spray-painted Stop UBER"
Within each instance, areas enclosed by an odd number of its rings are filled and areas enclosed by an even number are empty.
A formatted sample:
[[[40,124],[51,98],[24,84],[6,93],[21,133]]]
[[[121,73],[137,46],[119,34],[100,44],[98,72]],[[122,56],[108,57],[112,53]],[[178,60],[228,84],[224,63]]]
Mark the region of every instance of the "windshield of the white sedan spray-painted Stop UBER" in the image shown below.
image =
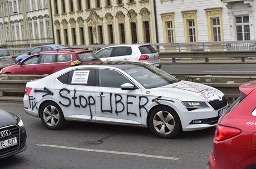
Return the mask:
[[[124,71],[137,80],[144,88],[157,88],[178,82],[174,76],[151,65],[135,66]]]

